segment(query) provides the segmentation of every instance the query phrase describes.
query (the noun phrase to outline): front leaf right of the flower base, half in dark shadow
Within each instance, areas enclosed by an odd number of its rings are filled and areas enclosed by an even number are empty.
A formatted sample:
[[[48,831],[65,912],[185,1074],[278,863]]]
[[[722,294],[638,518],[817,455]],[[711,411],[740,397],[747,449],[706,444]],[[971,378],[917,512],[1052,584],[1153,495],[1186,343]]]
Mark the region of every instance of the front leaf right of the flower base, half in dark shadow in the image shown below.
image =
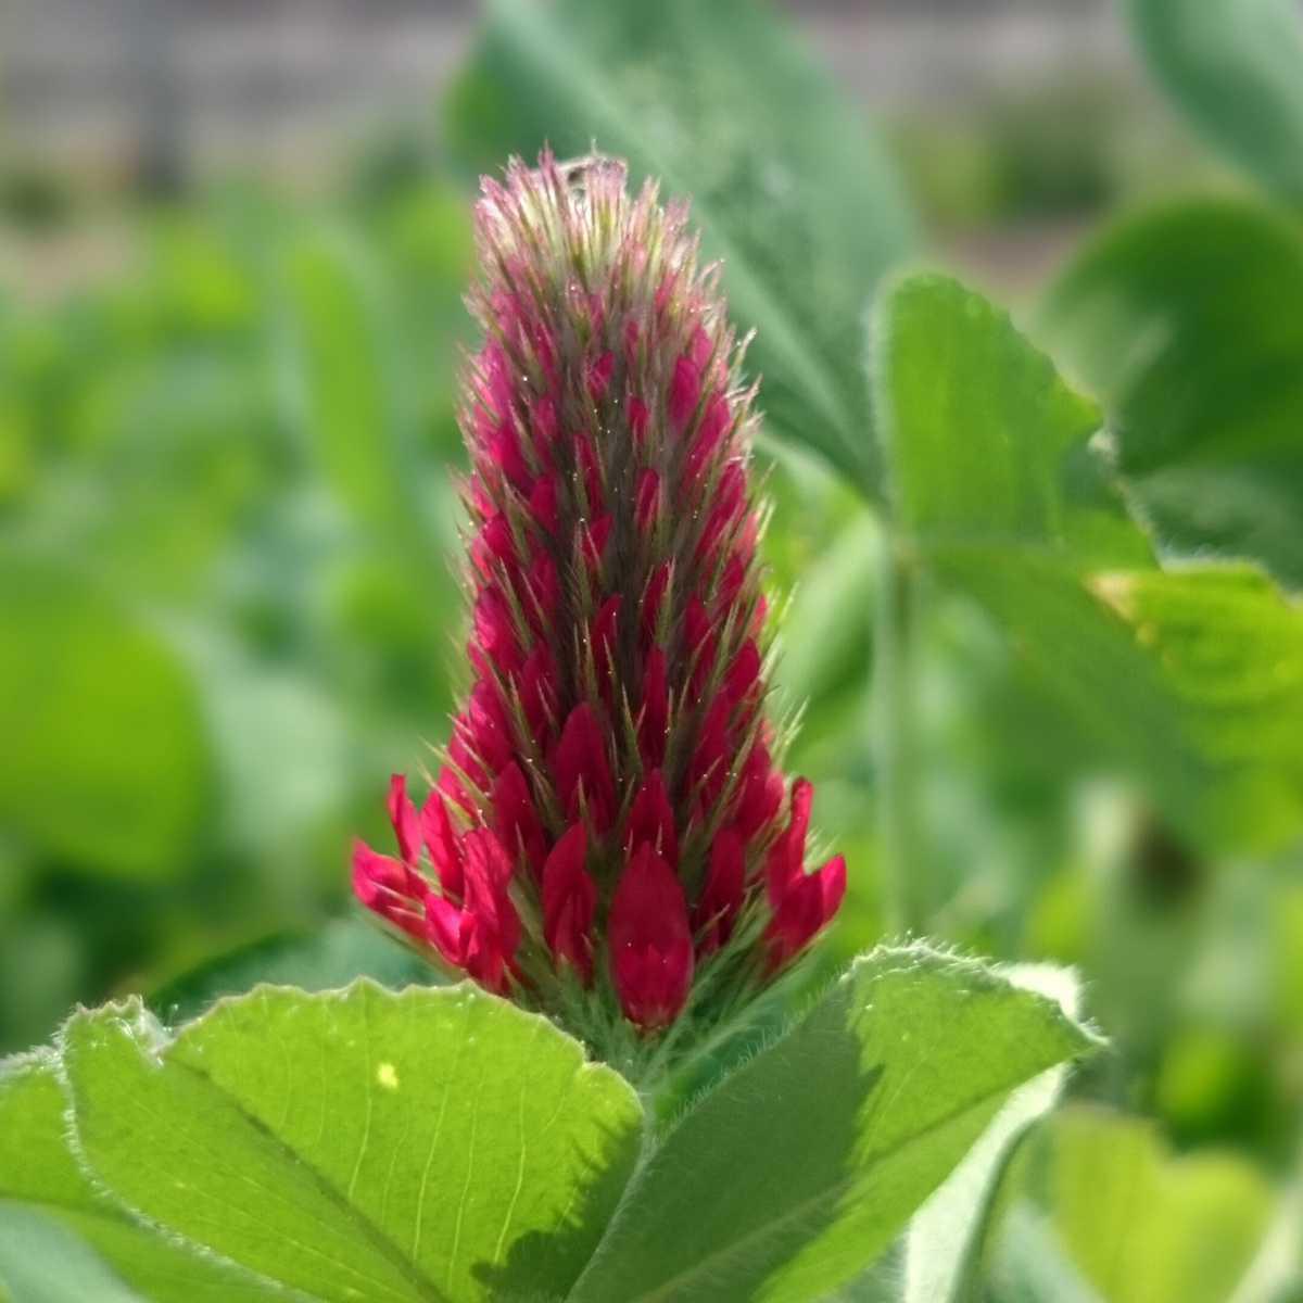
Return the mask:
[[[976,962],[876,951],[670,1132],[573,1299],[820,1298],[886,1248],[1011,1091],[1091,1045]]]

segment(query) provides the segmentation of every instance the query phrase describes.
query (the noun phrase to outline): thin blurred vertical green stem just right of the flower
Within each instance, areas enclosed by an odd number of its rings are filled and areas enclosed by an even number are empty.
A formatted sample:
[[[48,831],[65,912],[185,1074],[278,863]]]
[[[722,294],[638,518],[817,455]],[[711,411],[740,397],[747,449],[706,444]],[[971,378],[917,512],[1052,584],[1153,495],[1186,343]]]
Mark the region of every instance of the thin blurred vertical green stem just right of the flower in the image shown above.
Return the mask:
[[[895,933],[925,930],[933,906],[919,835],[916,588],[913,566],[886,537],[874,629],[874,726],[883,913]]]

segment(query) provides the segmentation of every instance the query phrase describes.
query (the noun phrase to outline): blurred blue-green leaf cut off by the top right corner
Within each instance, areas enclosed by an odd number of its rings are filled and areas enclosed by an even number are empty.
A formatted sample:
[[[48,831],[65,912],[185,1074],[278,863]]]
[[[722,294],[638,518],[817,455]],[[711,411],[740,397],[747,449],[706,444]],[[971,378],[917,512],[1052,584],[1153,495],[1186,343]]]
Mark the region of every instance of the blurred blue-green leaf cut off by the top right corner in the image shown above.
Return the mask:
[[[1131,0],[1167,93],[1230,159],[1303,202],[1303,25],[1293,0]]]

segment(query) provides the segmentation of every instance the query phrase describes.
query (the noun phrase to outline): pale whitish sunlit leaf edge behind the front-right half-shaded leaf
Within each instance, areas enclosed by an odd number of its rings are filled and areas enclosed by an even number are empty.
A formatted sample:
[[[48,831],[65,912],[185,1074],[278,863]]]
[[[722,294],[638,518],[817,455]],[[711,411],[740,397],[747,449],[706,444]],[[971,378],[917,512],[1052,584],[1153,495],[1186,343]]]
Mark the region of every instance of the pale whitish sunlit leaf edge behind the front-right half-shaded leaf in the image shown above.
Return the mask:
[[[1076,976],[1048,964],[1006,971],[1016,986],[1058,1001],[1079,1014]],[[1058,1102],[1067,1066],[1058,1065],[1020,1085],[946,1183],[919,1209],[906,1237],[903,1303],[977,1303],[982,1257],[997,1195],[1014,1154],[1032,1127]]]

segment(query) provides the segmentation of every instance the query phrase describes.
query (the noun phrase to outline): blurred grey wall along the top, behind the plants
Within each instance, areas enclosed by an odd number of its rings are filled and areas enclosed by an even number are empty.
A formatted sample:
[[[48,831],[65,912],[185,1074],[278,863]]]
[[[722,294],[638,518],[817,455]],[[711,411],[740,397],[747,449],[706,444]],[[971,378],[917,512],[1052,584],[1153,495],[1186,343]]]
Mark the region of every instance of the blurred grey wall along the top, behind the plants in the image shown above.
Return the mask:
[[[655,0],[648,0],[655,3]],[[709,0],[702,0],[709,3]],[[305,169],[429,104],[473,0],[0,0],[0,151],[47,165]],[[876,109],[1127,76],[1109,0],[786,0]]]

